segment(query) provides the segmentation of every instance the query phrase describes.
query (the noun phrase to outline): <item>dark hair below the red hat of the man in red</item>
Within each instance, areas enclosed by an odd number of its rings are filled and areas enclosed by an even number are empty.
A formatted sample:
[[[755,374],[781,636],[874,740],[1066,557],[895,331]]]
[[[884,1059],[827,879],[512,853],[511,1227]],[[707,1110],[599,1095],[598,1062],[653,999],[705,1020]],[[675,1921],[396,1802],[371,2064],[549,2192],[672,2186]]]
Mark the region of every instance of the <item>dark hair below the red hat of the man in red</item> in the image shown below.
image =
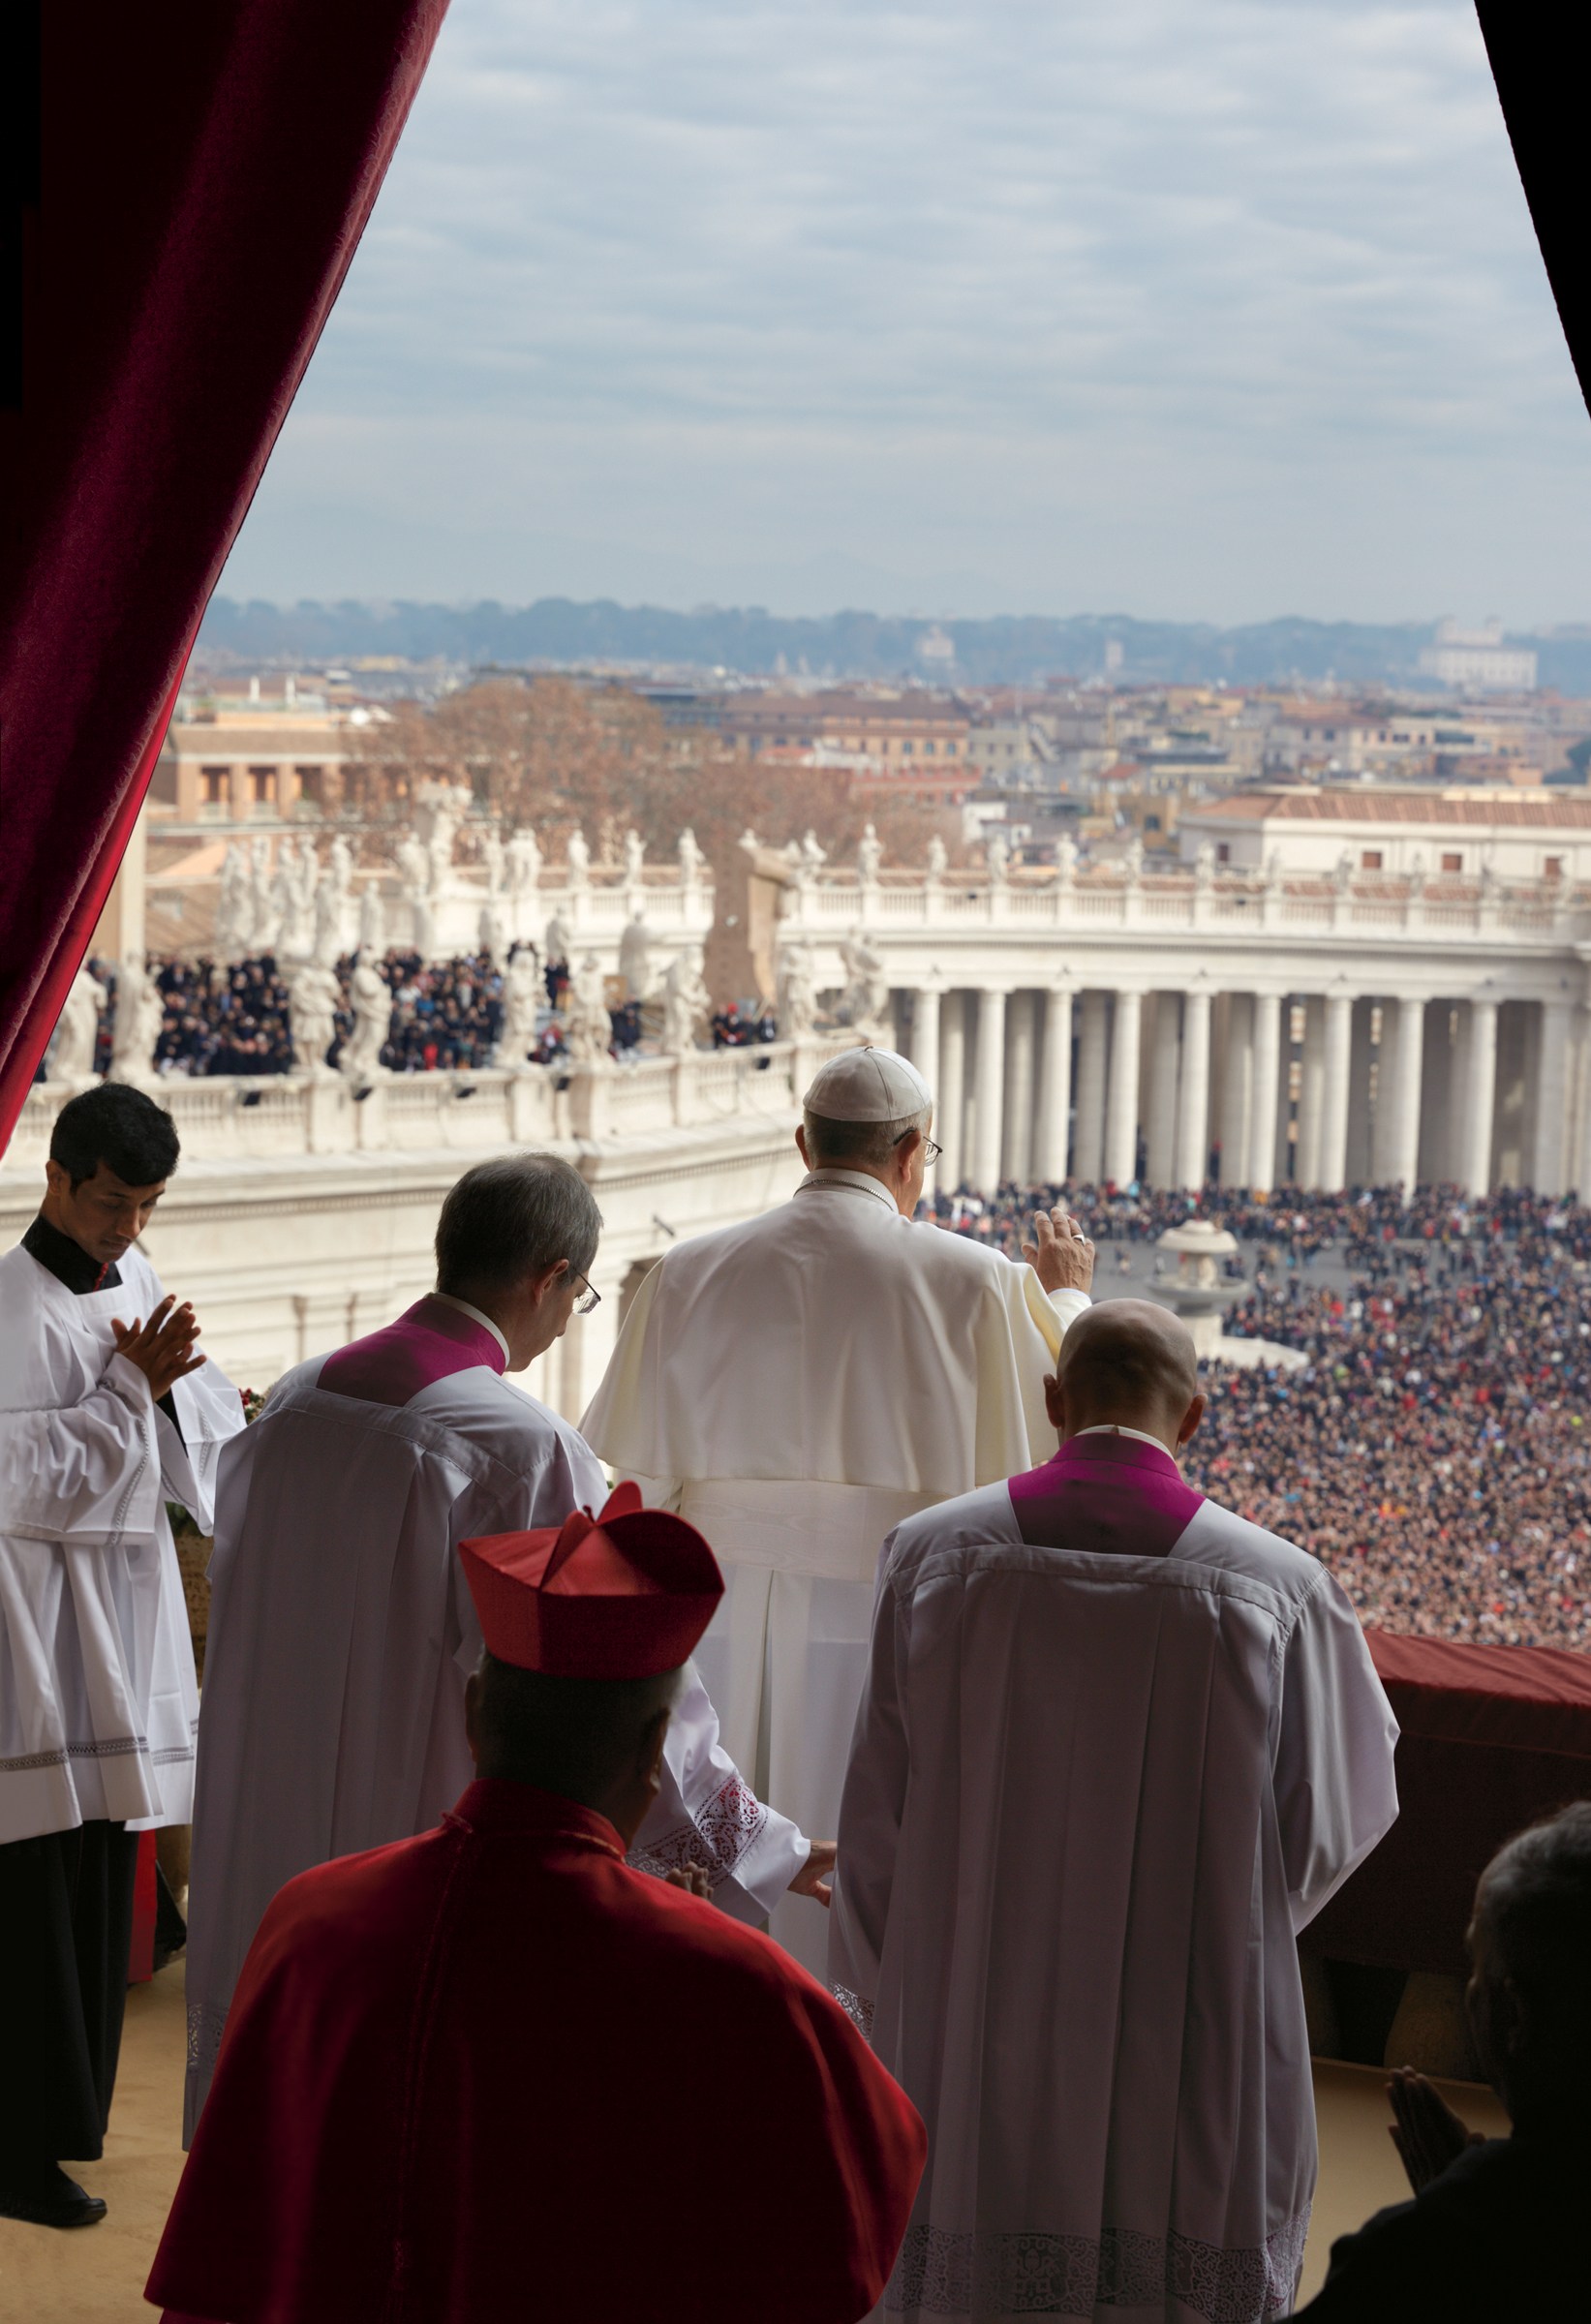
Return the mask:
[[[657,1678],[550,1678],[481,1652],[476,1734],[483,1759],[564,1799],[604,1792],[634,1762],[641,1736],[678,1687]]]

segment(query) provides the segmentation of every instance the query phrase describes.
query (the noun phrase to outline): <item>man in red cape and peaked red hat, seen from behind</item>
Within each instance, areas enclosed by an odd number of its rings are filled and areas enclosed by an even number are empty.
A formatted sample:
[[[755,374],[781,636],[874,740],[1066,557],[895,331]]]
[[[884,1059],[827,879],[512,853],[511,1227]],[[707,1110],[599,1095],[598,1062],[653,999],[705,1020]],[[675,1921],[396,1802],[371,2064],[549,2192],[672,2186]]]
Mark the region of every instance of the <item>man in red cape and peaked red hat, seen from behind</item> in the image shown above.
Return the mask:
[[[625,1850],[722,1590],[622,1487],[462,1545],[476,1780],[249,1952],[149,2278],[167,2324],[855,2324],[922,2124],[776,1945]]]

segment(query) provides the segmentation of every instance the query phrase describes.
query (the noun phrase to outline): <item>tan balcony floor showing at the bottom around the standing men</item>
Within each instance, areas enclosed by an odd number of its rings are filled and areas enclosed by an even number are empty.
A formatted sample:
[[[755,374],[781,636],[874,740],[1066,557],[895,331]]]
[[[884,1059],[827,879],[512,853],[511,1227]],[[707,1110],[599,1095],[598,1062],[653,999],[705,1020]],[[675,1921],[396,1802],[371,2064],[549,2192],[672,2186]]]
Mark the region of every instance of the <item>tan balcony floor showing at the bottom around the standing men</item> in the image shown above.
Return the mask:
[[[142,2291],[181,2171],[183,2059],[183,1964],[172,1961],[128,1994],[105,2161],[74,2173],[105,2196],[109,2217],[70,2236],[0,2219],[0,2310],[30,2324],[151,2324],[156,2310]],[[1315,2066],[1319,2189],[1303,2298],[1319,2289],[1333,2238],[1408,2192],[1382,2085],[1368,2066]],[[1507,2129],[1489,2089],[1445,2082],[1442,2092],[1473,2129]]]

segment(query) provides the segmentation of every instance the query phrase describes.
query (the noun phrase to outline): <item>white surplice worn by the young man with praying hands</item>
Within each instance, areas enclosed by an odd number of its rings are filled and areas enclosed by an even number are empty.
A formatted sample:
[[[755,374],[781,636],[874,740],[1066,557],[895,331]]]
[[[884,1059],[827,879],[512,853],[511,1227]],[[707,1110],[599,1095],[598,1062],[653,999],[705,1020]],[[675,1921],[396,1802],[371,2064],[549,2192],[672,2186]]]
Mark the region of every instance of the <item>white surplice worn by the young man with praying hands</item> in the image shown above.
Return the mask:
[[[21,1243],[0,1257],[0,1841],[193,1813],[200,1699],[165,1504],[209,1532],[244,1411],[202,1364],[172,1387],[172,1427],[111,1332],[149,1320],[160,1278],[137,1250],[118,1267],[79,1294]]]

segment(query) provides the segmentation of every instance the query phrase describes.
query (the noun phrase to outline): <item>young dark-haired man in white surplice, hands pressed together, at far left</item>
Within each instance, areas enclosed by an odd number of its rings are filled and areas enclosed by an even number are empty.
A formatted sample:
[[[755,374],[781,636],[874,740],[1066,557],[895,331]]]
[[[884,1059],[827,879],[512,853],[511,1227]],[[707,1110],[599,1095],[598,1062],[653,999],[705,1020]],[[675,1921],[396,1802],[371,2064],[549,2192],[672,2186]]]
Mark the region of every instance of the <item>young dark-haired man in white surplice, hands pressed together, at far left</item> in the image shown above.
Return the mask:
[[[86,2226],[116,2085],[137,1834],[193,1808],[197,1687],[165,1504],[209,1529],[244,1425],[137,1248],[177,1169],[128,1083],[72,1097],[0,1260],[0,2212]]]

